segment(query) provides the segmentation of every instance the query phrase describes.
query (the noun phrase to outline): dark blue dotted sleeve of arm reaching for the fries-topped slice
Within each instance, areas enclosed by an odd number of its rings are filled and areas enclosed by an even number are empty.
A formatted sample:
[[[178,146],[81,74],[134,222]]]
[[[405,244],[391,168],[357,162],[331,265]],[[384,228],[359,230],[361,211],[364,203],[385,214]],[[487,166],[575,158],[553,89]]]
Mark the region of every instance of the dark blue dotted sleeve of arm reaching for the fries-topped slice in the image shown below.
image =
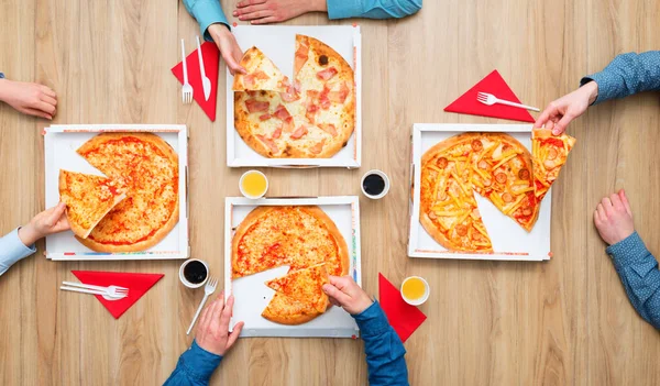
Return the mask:
[[[602,71],[582,78],[580,86],[592,80],[598,85],[594,104],[637,92],[660,90],[660,51],[618,55]]]

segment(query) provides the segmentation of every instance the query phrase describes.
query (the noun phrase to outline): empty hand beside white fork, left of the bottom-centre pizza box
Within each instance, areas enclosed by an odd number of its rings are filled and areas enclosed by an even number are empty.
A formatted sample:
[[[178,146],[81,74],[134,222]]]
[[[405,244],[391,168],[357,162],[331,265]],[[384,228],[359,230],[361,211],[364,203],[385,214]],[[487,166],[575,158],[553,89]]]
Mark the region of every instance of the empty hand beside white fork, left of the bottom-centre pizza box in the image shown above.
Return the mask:
[[[220,293],[201,312],[195,340],[204,350],[216,355],[224,355],[231,349],[243,329],[243,322],[238,322],[233,331],[229,332],[229,320],[233,309],[234,297],[231,295],[224,304],[224,291]]]

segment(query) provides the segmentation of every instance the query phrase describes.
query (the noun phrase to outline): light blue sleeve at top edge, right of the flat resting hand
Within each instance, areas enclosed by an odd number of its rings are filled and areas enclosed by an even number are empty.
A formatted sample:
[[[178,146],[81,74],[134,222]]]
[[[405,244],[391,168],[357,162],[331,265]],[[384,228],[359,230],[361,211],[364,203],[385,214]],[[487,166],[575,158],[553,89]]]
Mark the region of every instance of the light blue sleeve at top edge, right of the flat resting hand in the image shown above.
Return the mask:
[[[327,0],[328,18],[405,18],[421,9],[422,0]]]

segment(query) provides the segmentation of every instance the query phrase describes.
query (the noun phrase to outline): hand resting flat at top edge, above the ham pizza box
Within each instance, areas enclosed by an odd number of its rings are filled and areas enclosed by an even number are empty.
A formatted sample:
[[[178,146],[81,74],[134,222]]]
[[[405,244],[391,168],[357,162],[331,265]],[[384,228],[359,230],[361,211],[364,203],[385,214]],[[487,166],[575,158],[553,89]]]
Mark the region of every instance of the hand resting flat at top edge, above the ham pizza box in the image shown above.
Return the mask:
[[[267,24],[294,19],[307,12],[327,12],[326,0],[243,0],[234,18],[251,24]]]

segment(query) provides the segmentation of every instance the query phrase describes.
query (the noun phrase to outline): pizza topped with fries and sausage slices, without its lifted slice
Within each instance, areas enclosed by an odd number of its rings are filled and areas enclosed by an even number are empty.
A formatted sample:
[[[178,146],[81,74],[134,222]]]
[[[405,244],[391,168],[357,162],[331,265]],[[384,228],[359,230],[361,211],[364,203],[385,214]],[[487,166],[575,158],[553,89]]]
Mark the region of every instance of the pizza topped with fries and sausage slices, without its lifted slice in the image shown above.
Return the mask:
[[[492,252],[474,192],[530,231],[539,214],[529,151],[503,133],[464,133],[421,158],[420,222],[451,251]]]

